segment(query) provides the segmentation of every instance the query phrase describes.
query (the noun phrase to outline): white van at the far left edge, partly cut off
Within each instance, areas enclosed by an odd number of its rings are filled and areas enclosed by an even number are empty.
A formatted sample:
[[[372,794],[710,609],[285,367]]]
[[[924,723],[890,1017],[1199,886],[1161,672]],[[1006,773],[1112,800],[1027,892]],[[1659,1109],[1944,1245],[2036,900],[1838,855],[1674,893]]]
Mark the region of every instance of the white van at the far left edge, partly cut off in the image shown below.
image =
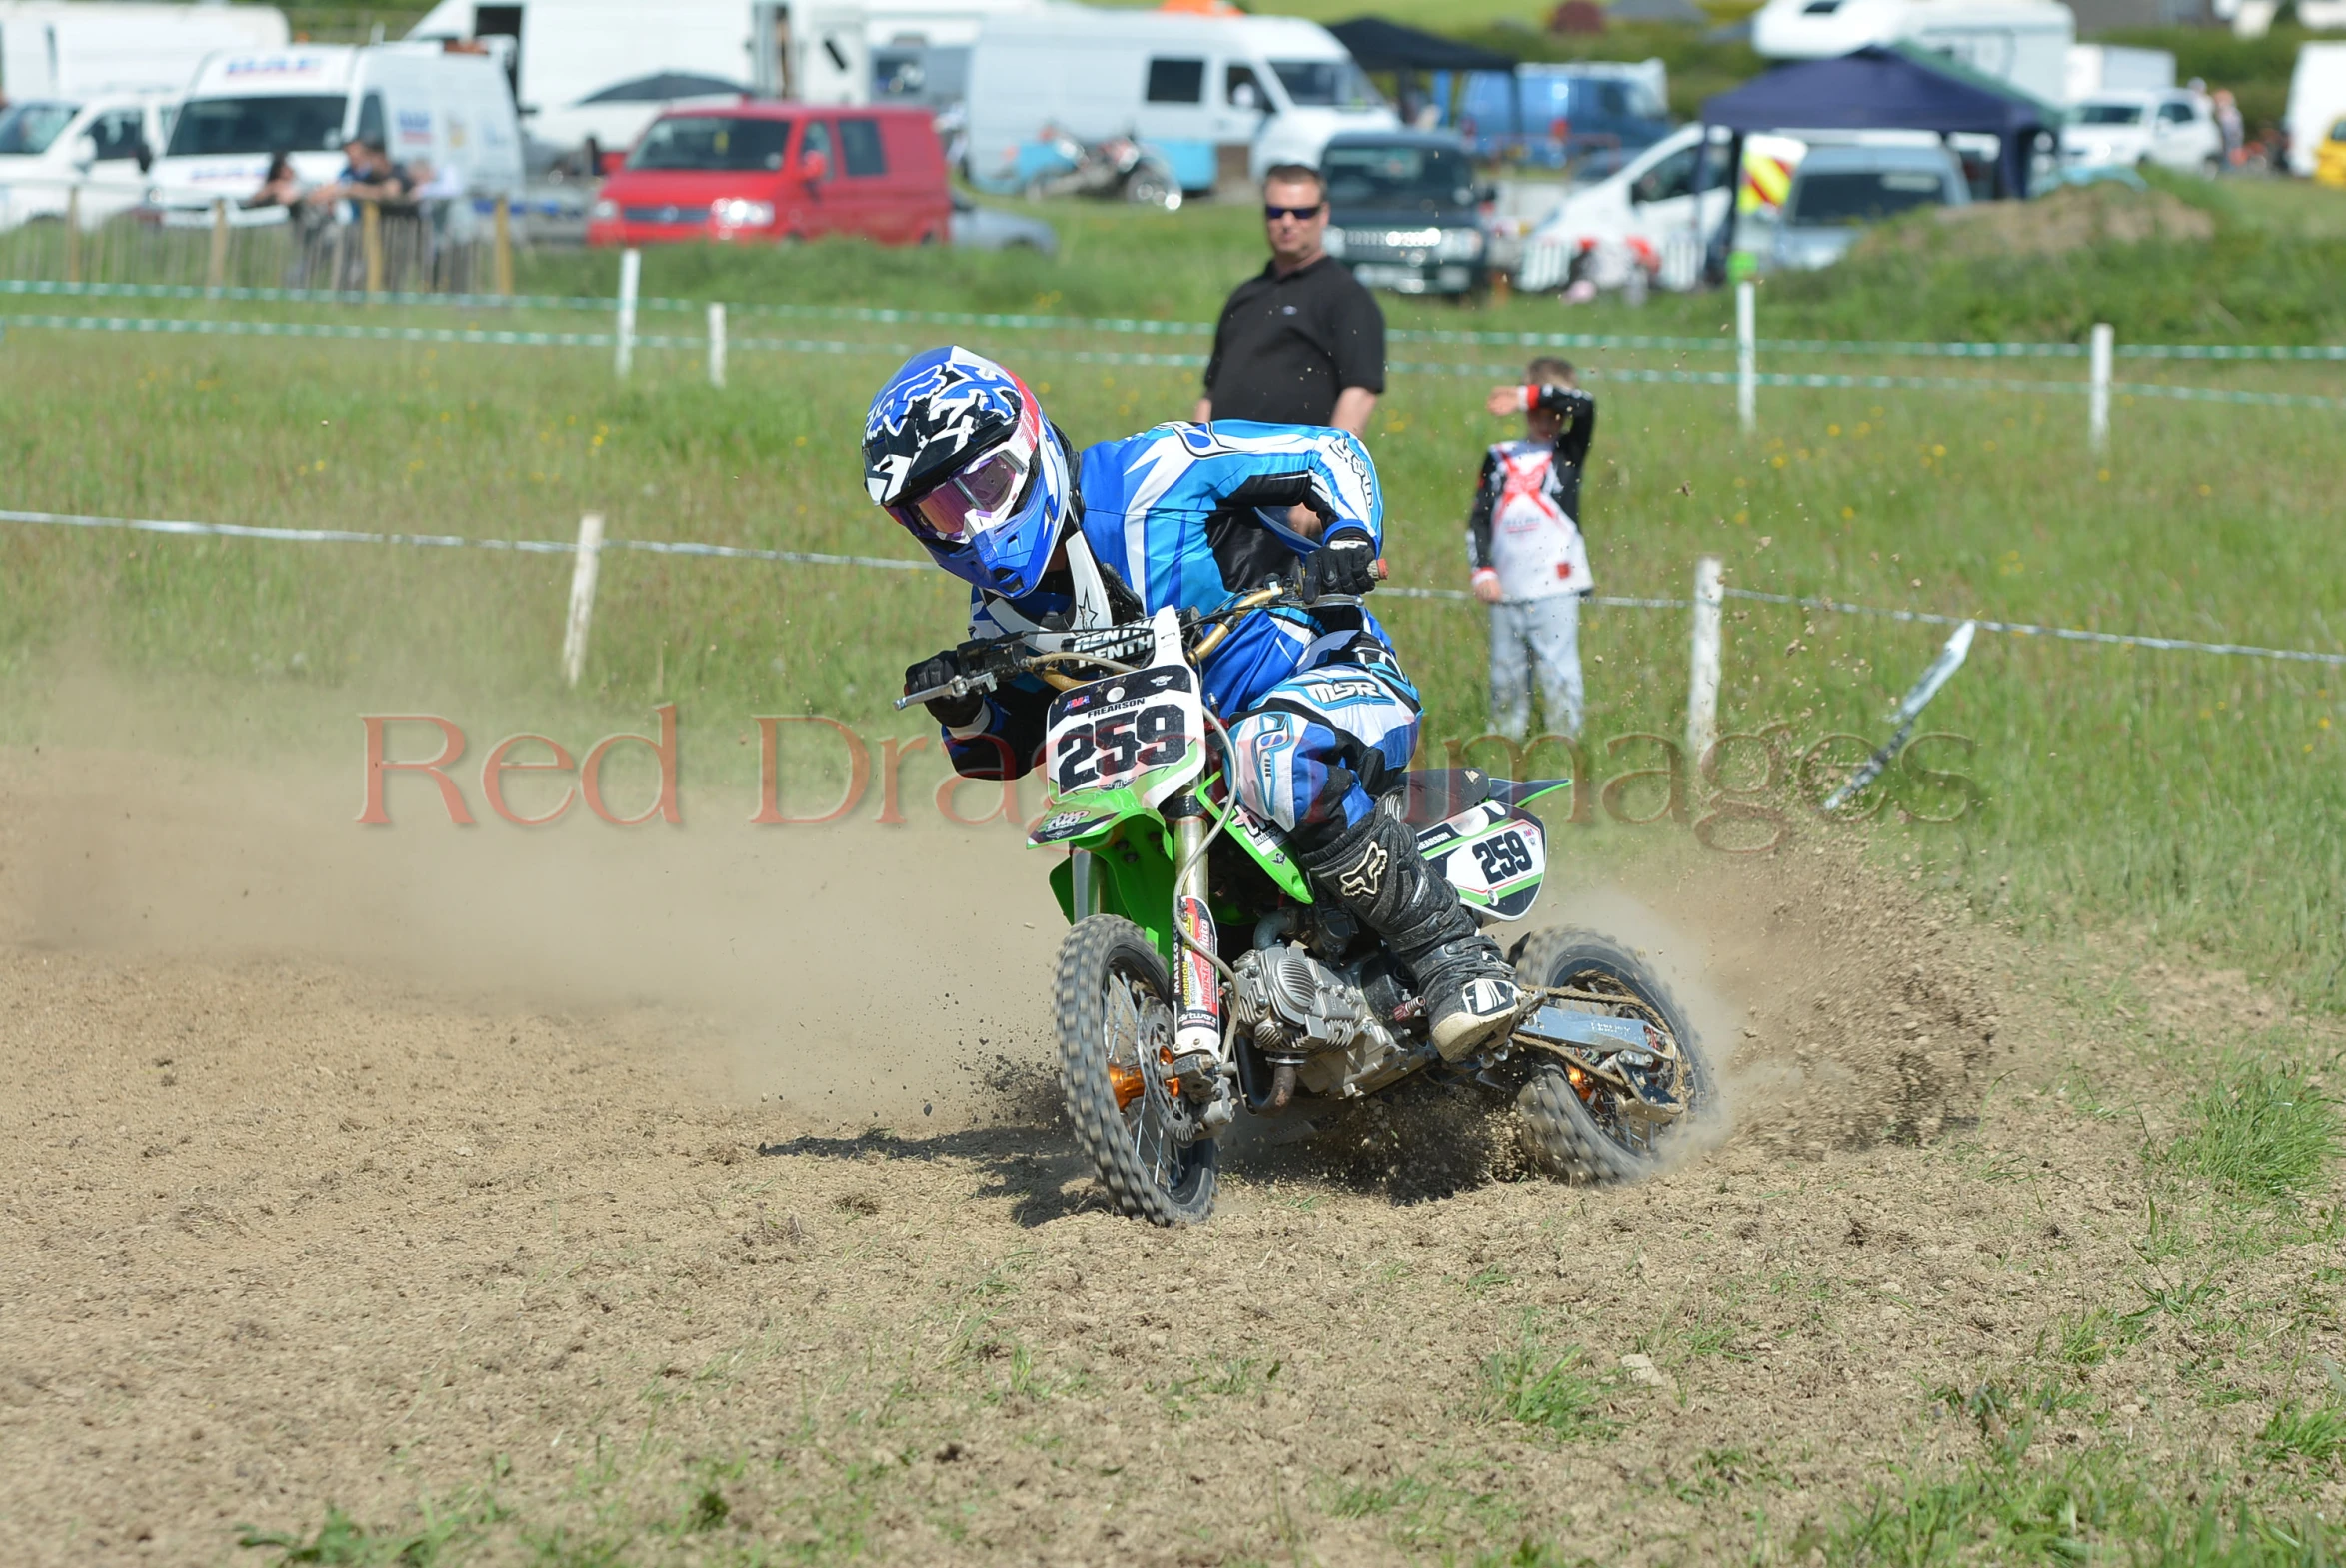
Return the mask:
[[[0,110],[0,230],[63,218],[73,190],[87,230],[136,206],[174,108],[171,94],[103,94]]]

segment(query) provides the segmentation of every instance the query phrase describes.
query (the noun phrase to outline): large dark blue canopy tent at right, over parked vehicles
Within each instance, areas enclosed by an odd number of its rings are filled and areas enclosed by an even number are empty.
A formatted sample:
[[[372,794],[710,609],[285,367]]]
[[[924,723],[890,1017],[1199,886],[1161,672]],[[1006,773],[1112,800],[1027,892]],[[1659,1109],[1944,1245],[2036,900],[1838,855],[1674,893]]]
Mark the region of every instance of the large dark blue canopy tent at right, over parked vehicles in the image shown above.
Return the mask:
[[[1799,61],[1703,101],[1703,124],[1729,131],[1727,169],[1743,169],[1752,131],[1935,131],[1996,138],[1996,195],[2029,195],[2029,159],[2060,110],[1945,54],[1867,45],[1830,61]],[[1706,129],[1708,143],[1708,129]],[[1736,178],[1729,176],[1729,188]],[[1710,241],[1713,274],[1727,270],[1736,202]]]

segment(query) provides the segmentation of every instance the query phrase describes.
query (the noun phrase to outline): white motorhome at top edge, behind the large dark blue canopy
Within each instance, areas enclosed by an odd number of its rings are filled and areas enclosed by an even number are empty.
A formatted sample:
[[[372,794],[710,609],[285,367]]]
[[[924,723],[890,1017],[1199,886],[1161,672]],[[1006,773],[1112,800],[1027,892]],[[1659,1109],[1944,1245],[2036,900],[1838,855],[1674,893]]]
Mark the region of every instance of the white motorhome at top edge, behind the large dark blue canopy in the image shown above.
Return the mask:
[[[1752,49],[1813,61],[1865,45],[1935,49],[2046,103],[2069,89],[2076,14],[2057,0],[1767,0]]]

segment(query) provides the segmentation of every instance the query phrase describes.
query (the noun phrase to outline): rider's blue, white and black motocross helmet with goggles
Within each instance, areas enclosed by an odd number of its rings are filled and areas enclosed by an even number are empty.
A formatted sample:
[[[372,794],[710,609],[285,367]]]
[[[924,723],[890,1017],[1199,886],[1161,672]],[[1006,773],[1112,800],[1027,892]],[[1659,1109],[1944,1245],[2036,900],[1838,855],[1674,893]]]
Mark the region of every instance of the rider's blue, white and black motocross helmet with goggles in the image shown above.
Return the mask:
[[[1074,511],[1035,391],[969,349],[908,359],[863,422],[863,488],[955,577],[1023,598]]]

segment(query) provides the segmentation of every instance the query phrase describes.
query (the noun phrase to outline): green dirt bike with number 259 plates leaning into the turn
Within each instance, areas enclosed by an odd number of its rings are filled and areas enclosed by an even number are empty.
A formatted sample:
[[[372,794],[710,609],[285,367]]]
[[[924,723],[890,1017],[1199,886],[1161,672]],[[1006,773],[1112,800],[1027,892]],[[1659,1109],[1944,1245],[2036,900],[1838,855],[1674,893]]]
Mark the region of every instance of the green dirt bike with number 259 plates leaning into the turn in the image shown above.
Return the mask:
[[[1279,834],[1234,804],[1234,748],[1199,668],[1243,616],[1300,602],[1272,584],[1211,614],[964,642],[962,675],[896,703],[992,691],[1018,673],[1060,689],[1044,738],[1049,811],[1028,841],[1070,851],[1051,870],[1072,926],[1053,998],[1060,1092],[1110,1198],[1159,1226],[1201,1223],[1241,1109],[1354,1102],[1424,1071],[1516,1088],[1530,1151],[1558,1177],[1654,1174],[1708,1109],[1710,1069],[1633,952],[1586,930],[1523,938],[1508,956],[1534,1003],[1478,1057],[1443,1064],[1408,970],[1316,900]],[[1511,923],[1546,874],[1546,834],[1525,806],[1567,785],[1408,773],[1379,809],[1417,827],[1426,863],[1476,916]]]

